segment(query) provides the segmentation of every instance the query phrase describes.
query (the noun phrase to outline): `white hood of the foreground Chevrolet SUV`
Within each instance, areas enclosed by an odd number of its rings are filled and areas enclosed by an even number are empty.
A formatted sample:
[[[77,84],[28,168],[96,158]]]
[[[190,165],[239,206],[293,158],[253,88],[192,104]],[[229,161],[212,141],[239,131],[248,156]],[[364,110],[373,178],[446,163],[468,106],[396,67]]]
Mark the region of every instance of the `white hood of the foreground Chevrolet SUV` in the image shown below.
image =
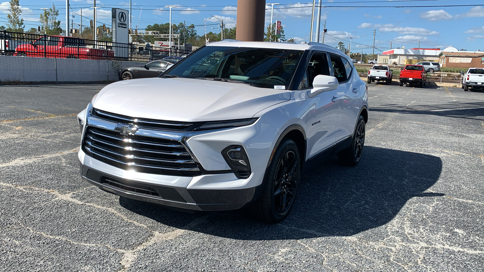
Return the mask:
[[[286,90],[193,78],[141,78],[112,83],[92,106],[130,117],[166,121],[217,121],[251,118],[287,101]]]

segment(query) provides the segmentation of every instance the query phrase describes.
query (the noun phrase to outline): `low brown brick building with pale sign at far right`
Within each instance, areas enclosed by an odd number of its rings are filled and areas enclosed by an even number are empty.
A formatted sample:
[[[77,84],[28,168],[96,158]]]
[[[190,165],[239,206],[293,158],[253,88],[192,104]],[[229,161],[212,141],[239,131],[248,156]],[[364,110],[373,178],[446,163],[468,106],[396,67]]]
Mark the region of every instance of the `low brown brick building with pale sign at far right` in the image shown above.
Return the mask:
[[[440,67],[455,68],[484,68],[484,52],[481,51],[457,51],[445,52],[439,54]]]

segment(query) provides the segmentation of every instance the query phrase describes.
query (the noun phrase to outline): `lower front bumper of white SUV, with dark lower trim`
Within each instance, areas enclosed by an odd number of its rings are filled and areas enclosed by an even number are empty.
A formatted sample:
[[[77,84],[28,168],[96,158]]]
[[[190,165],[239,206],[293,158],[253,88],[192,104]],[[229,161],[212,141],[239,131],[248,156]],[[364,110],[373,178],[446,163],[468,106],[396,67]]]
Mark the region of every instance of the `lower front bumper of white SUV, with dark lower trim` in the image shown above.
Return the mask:
[[[200,180],[200,177],[132,173],[83,153],[79,151],[79,157],[84,158],[84,164],[79,164],[82,179],[118,196],[195,211],[227,211],[250,205],[261,194],[262,185],[236,190],[191,189],[190,183]],[[220,182],[234,181],[234,176],[227,173],[202,177],[206,181]]]

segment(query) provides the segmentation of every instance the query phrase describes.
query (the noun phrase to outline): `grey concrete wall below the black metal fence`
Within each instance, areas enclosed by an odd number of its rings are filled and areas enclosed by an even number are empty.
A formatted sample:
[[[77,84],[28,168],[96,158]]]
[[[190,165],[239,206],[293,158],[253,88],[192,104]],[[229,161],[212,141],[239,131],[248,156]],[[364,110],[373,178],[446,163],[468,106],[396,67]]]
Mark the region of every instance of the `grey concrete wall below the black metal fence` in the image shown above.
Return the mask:
[[[142,62],[0,56],[0,82],[102,82],[118,80],[122,66]]]

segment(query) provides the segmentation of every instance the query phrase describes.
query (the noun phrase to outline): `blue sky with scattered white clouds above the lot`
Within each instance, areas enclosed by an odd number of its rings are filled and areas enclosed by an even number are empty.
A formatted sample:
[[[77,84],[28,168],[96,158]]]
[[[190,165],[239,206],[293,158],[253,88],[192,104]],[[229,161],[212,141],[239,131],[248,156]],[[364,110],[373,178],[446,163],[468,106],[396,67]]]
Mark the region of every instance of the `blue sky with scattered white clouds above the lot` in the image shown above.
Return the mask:
[[[0,0],[1,1],[1,0]],[[72,13],[80,14],[83,8],[85,17],[92,17],[92,0],[70,0],[70,18],[74,19],[74,27],[80,24],[80,16],[72,18]],[[162,4],[160,4],[160,2]],[[270,1],[266,1],[270,2]],[[376,29],[375,53],[392,47],[405,46],[406,48],[421,47],[441,49],[454,46],[457,49],[484,50],[484,5],[465,7],[333,7],[333,6],[431,6],[431,5],[469,5],[482,4],[483,0],[323,0],[321,24],[326,19],[328,29],[324,43],[337,45],[343,41],[348,47],[352,39],[351,51],[371,53],[373,48],[373,30]],[[41,8],[49,7],[55,3],[59,8],[62,28],[65,27],[65,1],[63,0],[20,0],[23,8],[22,17],[26,28],[40,25],[39,14]],[[111,25],[111,8],[128,8],[129,0],[99,0],[97,5],[98,21]],[[216,19],[209,19],[210,13],[224,19],[226,27],[233,27],[236,23],[237,13],[234,11],[237,0],[133,0],[133,28],[143,29],[154,23],[166,23],[169,12],[164,6],[180,6],[172,12],[172,22],[203,25],[204,18],[207,32],[220,31]],[[311,7],[306,7],[309,1],[288,2],[280,1],[284,5],[274,6],[274,21],[281,20],[286,38],[295,38],[296,41],[309,41]],[[311,2],[312,3],[312,2]],[[7,1],[0,4],[0,25],[5,25],[8,6]],[[268,8],[270,5],[267,6]],[[296,7],[296,8],[294,8]],[[278,8],[278,9],[276,9]],[[164,10],[163,10],[164,9]],[[271,11],[266,10],[266,26],[271,20]],[[83,19],[83,25],[88,26],[88,19]],[[214,28],[214,29],[212,29]],[[316,27],[315,27],[316,29]],[[321,26],[322,30],[322,26]],[[198,34],[204,33],[204,27],[197,27]],[[371,47],[371,48],[370,48]]]

